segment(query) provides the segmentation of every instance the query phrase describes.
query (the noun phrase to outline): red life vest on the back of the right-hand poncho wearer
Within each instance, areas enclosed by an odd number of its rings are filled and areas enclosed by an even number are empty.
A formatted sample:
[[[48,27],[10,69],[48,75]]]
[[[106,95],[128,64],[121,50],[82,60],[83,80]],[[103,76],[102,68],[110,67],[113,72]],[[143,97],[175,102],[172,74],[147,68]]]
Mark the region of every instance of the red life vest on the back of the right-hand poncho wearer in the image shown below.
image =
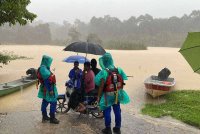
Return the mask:
[[[118,73],[118,69],[114,70],[106,69],[108,72],[108,77],[105,82],[104,91],[105,92],[113,92],[123,88],[124,80],[122,76]]]

